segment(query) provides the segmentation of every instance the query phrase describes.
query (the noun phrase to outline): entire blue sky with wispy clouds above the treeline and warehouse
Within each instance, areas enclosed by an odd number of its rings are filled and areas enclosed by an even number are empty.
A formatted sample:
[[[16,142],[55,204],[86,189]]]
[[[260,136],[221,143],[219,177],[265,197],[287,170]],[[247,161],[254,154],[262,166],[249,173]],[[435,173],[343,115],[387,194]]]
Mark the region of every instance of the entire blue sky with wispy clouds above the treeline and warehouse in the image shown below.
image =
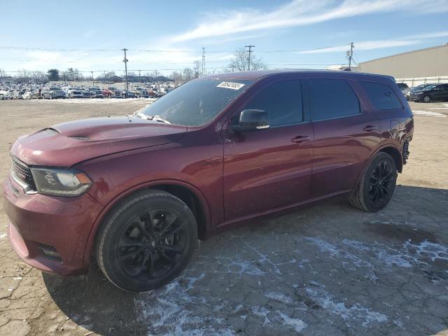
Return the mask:
[[[207,72],[255,45],[269,68],[325,69],[448,43],[448,0],[0,0],[0,69]],[[13,74],[11,72],[11,74]]]

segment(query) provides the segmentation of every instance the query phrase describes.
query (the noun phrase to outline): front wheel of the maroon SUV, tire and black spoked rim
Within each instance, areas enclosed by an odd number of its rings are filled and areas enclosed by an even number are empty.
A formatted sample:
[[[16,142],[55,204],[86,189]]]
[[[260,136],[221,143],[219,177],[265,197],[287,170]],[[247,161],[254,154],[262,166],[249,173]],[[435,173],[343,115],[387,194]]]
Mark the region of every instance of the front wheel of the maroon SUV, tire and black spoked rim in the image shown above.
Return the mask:
[[[142,190],[104,221],[97,234],[97,262],[118,288],[144,292],[176,278],[196,242],[195,216],[183,201],[162,190]]]

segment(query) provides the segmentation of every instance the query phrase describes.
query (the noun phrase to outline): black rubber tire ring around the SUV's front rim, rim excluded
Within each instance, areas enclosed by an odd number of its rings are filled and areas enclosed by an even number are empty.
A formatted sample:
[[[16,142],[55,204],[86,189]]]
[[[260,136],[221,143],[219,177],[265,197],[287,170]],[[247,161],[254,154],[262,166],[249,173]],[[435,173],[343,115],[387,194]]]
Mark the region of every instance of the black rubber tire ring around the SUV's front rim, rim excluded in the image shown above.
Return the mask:
[[[193,213],[188,206],[177,197],[167,193],[148,193],[148,197],[138,200],[126,206],[125,209],[118,209],[109,221],[106,222],[102,231],[98,246],[98,258],[100,268],[102,268],[107,278],[119,288],[134,292],[143,292],[158,288],[172,281],[188,265],[195,251],[197,241],[197,225]],[[129,203],[127,203],[129,204]],[[143,214],[148,209],[165,209],[173,211],[174,214],[186,221],[186,247],[179,262],[164,276],[158,279],[142,281],[133,279],[125,274],[120,266],[117,256],[117,244],[125,230],[125,225],[132,221],[135,216]]]

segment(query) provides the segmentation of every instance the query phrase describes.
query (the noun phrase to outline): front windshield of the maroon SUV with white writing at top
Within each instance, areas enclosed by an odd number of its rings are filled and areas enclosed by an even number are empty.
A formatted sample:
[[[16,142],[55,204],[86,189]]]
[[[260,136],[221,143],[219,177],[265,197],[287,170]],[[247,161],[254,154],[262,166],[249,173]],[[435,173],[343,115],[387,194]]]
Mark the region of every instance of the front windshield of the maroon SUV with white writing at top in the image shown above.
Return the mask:
[[[201,126],[213,120],[252,80],[197,79],[177,87],[139,111],[174,125]]]

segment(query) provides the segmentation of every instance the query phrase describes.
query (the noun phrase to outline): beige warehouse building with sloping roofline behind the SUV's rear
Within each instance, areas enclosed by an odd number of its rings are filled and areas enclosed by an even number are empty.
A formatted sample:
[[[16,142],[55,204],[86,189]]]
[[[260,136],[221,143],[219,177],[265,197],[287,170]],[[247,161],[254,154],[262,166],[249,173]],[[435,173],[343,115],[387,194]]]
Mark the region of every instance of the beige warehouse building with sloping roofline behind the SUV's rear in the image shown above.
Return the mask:
[[[448,43],[360,62],[360,71],[380,73],[405,81],[448,82]],[[415,83],[414,83],[415,84]]]

